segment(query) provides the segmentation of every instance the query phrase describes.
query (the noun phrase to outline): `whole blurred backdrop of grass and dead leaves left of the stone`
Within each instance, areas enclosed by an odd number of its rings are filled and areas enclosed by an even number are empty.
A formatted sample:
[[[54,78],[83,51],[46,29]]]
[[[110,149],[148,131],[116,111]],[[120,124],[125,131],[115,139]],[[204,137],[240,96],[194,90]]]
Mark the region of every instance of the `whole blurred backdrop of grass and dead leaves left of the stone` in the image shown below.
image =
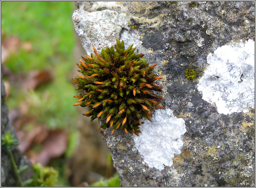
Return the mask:
[[[56,186],[120,186],[95,120],[72,106],[70,80],[85,55],[73,2],[1,2],[1,71],[9,119],[33,164],[58,171]],[[113,177],[113,178],[110,178]],[[110,178],[110,179],[109,179]]]

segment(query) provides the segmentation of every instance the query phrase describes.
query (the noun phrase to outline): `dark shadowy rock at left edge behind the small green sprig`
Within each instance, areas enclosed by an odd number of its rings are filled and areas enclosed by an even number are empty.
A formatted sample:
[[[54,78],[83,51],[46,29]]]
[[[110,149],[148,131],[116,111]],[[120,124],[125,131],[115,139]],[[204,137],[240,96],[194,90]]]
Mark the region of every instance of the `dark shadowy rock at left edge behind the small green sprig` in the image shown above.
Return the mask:
[[[8,119],[8,107],[5,104],[5,88],[1,75],[1,135],[7,131],[10,131],[17,138],[14,127],[9,124]],[[12,155],[18,168],[24,165],[28,165],[29,168],[21,173],[23,181],[32,178],[33,170],[31,162],[25,157],[19,150],[18,146],[12,147]],[[1,186],[3,187],[17,187],[20,186],[18,179],[14,173],[14,168],[11,165],[9,154],[4,146],[1,147]]]

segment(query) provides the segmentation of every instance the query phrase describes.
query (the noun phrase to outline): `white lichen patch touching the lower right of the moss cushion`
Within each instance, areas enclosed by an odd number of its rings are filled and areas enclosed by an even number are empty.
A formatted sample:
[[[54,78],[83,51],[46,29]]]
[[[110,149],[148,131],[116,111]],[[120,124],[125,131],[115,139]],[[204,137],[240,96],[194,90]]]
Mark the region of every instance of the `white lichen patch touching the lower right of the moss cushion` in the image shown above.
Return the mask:
[[[158,109],[152,122],[144,120],[142,134],[133,136],[135,148],[150,168],[159,170],[173,165],[174,154],[181,154],[181,135],[186,132],[185,121],[176,118],[171,109]]]

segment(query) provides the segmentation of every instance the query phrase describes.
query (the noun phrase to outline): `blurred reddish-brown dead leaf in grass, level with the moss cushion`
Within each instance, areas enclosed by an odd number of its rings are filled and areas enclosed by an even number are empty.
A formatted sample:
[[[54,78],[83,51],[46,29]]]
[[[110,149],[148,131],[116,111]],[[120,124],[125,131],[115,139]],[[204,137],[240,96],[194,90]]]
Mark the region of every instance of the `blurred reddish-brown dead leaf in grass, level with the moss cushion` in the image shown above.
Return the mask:
[[[33,70],[29,73],[27,81],[24,83],[24,87],[28,90],[33,90],[41,84],[50,82],[53,79],[50,71]]]

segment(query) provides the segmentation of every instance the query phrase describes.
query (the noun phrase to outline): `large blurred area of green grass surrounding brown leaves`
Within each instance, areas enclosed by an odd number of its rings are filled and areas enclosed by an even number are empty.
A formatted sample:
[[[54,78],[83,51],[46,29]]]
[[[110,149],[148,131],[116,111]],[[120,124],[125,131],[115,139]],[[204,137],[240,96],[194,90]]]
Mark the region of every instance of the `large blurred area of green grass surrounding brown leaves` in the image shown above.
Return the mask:
[[[36,91],[11,86],[7,105],[15,108],[29,99],[29,115],[50,128],[67,128],[77,116],[72,106],[76,93],[70,81],[75,45],[73,9],[73,2],[1,2],[1,29],[6,37],[17,36],[32,44],[31,52],[21,48],[5,65],[16,74],[50,70],[54,75],[52,83]]]

